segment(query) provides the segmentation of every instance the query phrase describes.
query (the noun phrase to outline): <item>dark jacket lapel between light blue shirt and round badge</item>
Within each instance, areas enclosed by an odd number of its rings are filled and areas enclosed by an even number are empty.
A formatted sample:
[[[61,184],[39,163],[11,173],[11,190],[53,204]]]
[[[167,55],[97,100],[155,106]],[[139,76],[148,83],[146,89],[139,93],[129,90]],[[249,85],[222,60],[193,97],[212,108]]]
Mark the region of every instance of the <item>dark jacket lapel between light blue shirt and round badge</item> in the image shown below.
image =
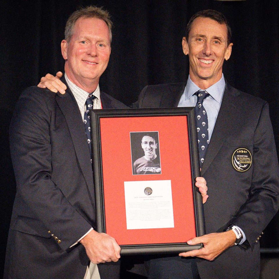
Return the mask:
[[[235,112],[237,111],[237,106],[235,105],[234,100],[234,88],[230,87],[230,85],[226,85],[221,107],[201,169],[202,176],[216,157],[227,137],[230,135],[229,127],[233,126]]]

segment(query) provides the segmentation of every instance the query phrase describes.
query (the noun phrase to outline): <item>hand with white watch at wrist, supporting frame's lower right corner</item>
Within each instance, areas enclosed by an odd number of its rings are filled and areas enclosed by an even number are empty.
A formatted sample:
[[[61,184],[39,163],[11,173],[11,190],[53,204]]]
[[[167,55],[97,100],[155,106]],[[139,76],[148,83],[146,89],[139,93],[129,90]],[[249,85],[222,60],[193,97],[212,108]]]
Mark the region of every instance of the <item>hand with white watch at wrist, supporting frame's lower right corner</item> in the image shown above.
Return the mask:
[[[227,232],[214,232],[200,237],[194,237],[187,241],[187,244],[195,245],[203,243],[204,247],[198,250],[192,250],[180,253],[182,257],[198,257],[213,261],[223,251],[233,246],[236,241],[235,233],[232,230]]]

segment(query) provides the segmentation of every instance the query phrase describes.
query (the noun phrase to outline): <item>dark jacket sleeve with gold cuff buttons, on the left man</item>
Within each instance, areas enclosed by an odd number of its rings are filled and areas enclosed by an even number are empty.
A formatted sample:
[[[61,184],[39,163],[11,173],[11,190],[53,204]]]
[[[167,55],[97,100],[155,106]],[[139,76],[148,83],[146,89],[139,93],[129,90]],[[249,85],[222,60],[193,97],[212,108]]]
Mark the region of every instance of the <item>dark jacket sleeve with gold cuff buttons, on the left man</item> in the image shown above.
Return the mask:
[[[30,219],[32,224],[42,224],[41,228],[47,230],[42,234],[51,235],[66,250],[91,225],[51,179],[51,113],[45,94],[51,93],[34,87],[26,89],[10,124],[10,151],[20,201],[17,214],[23,222]]]

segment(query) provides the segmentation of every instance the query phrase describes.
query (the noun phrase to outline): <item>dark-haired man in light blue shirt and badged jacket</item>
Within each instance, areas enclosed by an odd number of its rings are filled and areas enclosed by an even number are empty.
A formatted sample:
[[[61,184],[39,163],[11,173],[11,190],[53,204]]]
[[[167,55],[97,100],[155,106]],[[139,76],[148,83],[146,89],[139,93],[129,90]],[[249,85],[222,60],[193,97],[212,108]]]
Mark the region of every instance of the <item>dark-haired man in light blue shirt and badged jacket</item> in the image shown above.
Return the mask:
[[[198,12],[182,40],[187,83],[146,86],[136,103],[195,107],[201,175],[210,196],[204,204],[207,234],[188,241],[204,247],[179,254],[196,261],[155,258],[148,262],[148,278],[259,278],[258,242],[278,211],[278,160],[267,102],[231,87],[222,74],[230,40],[220,12]]]

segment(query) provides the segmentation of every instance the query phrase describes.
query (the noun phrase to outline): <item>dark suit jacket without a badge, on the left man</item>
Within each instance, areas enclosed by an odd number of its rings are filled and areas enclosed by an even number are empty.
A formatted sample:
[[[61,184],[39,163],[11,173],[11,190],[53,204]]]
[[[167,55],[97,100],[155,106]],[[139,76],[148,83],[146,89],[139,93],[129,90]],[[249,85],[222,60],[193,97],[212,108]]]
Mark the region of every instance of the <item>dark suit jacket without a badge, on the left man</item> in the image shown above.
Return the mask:
[[[126,108],[103,92],[101,102],[103,108]],[[10,124],[10,150],[17,193],[4,278],[83,278],[85,249],[69,247],[94,227],[94,183],[72,92],[27,88]]]

